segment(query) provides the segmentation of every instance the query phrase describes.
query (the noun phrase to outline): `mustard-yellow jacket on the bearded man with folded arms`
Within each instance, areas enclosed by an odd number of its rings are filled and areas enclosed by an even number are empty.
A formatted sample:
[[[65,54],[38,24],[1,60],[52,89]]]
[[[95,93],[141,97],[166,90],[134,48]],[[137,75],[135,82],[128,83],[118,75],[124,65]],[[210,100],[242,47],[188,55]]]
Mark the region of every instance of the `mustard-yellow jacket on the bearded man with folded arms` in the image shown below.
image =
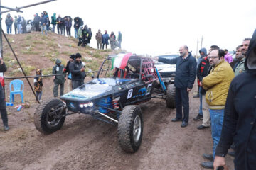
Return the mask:
[[[206,91],[206,102],[210,109],[225,108],[228,88],[235,77],[228,62],[222,60],[210,70],[210,74],[203,78],[203,89]]]

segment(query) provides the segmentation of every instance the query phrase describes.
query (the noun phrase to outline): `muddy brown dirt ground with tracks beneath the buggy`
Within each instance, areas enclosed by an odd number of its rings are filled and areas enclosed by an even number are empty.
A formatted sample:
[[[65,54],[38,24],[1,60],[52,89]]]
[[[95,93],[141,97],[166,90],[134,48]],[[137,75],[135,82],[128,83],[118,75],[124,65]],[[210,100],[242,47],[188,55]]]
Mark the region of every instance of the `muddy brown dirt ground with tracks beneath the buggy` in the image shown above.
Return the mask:
[[[199,105],[193,93],[186,128],[171,122],[176,110],[166,108],[165,101],[152,99],[140,105],[144,134],[134,154],[120,149],[117,127],[90,115],[70,115],[61,130],[42,135],[33,123],[37,103],[20,112],[9,107],[11,129],[0,131],[0,169],[203,169],[200,163],[207,160],[201,155],[212,152],[213,141],[210,128],[196,129],[201,122],[193,121]],[[44,91],[43,96],[52,96],[52,91]],[[233,169],[233,157],[226,161]]]

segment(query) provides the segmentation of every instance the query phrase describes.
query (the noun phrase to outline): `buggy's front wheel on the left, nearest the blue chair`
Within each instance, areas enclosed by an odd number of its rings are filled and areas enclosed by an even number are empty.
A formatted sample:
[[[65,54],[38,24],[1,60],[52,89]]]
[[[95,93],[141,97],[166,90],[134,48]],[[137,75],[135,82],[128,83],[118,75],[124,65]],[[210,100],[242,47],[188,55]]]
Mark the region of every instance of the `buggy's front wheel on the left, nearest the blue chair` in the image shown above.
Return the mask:
[[[65,121],[65,116],[59,116],[64,115],[66,109],[60,109],[60,111],[56,111],[54,115],[49,114],[53,113],[55,109],[63,107],[63,105],[63,101],[60,101],[58,98],[51,98],[48,101],[39,104],[34,115],[36,129],[44,134],[50,134],[60,130]]]

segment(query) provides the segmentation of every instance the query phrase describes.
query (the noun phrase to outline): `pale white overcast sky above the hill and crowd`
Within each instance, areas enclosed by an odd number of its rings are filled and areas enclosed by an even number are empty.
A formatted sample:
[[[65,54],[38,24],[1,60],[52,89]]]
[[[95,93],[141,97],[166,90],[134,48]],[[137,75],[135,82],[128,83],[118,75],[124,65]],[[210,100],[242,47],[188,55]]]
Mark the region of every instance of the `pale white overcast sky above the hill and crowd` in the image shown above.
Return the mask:
[[[1,0],[1,5],[16,8],[41,1],[45,0]],[[202,37],[202,47],[207,50],[210,45],[218,45],[229,51],[235,50],[244,38],[252,37],[256,28],[255,6],[255,0],[57,0],[10,14],[25,19],[33,19],[33,14],[43,11],[49,16],[79,16],[92,28],[90,46],[95,48],[95,34],[100,29],[102,33],[114,31],[115,35],[121,31],[122,49],[128,52],[177,54],[181,45],[187,45],[193,55],[199,55]],[[6,15],[2,15],[4,31]],[[73,29],[71,35],[74,36]]]

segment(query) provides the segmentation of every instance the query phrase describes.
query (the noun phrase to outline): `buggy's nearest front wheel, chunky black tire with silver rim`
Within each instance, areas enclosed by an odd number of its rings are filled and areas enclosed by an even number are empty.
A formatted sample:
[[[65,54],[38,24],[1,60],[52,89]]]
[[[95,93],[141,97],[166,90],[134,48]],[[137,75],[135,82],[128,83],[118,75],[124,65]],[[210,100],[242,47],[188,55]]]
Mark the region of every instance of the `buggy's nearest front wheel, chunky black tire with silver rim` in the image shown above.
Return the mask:
[[[117,137],[125,152],[136,152],[142,143],[143,120],[139,106],[125,106],[119,118]]]

